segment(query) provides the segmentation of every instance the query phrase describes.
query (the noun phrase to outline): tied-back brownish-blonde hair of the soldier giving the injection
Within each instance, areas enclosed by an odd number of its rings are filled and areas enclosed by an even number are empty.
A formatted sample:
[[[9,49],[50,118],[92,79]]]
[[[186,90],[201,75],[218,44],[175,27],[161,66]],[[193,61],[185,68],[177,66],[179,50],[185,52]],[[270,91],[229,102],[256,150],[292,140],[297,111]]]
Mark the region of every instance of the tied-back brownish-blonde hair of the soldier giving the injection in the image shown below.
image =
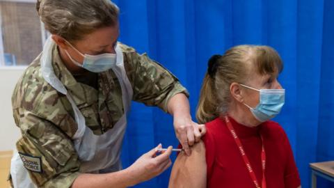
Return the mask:
[[[36,9],[47,31],[70,41],[118,23],[118,7],[109,0],[38,0]]]

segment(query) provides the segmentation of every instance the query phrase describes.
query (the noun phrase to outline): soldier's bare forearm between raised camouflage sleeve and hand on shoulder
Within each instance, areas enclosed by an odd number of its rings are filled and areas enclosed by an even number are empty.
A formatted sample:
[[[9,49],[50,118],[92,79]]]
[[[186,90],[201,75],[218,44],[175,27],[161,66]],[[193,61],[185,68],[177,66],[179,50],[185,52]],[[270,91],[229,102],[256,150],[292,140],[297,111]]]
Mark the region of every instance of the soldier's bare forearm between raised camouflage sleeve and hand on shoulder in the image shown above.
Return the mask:
[[[174,118],[190,118],[189,100],[184,93],[177,93],[168,101],[168,113]]]

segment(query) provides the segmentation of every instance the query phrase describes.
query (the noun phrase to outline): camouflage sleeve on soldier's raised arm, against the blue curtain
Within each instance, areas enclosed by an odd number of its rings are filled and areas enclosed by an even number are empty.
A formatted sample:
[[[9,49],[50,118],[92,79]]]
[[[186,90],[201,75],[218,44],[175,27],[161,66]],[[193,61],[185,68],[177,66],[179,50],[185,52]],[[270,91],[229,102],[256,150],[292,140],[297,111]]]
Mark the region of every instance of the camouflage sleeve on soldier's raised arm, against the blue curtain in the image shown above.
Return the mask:
[[[184,93],[189,97],[188,91],[177,77],[156,61],[152,61],[147,54],[133,53],[132,56],[127,56],[127,61],[131,61],[128,64],[132,65],[129,71],[127,70],[127,75],[132,82],[134,101],[157,106],[167,112],[171,97],[177,93]]]

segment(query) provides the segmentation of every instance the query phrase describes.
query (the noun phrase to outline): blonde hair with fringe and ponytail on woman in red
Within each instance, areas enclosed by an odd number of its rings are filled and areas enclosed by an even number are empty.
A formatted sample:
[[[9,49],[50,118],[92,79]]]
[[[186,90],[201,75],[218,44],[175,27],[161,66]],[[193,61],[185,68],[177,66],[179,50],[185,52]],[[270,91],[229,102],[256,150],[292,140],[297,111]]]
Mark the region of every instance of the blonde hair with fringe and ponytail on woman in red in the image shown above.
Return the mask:
[[[223,56],[209,59],[196,111],[198,123],[207,123],[228,111],[232,99],[230,85],[245,83],[254,73],[250,70],[260,75],[278,74],[283,70],[283,62],[275,49],[257,45],[232,47]]]

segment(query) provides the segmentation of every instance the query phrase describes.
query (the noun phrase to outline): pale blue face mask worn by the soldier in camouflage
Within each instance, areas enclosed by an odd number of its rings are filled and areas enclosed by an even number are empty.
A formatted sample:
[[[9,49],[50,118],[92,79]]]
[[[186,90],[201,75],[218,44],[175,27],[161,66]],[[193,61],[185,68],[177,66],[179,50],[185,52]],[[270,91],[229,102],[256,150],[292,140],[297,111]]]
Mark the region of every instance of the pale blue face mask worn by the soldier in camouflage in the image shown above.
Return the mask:
[[[75,61],[72,56],[65,50],[67,56],[70,58],[70,60],[77,66],[82,67],[86,70],[89,70],[90,72],[104,72],[106,70],[111,69],[116,64],[116,54],[100,54],[96,56],[88,55],[88,54],[82,54],[77,50],[75,47],[73,47],[70,42],[67,42],[75,51],[77,51],[81,56],[84,57],[84,62],[79,63]]]

